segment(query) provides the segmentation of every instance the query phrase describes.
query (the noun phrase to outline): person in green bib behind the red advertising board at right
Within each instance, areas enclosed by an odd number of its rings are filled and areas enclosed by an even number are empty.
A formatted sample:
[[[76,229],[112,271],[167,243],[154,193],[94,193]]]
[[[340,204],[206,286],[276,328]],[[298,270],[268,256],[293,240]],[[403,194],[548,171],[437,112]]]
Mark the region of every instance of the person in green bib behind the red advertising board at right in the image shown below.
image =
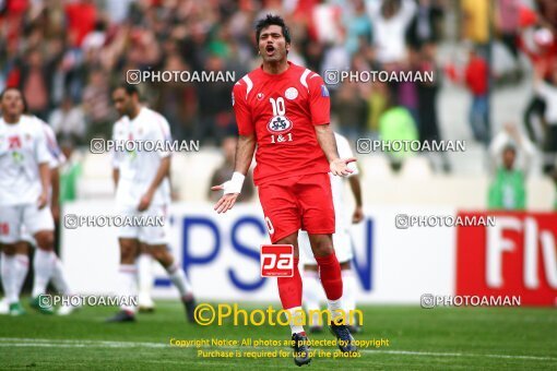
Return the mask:
[[[514,167],[517,148],[508,144],[502,151],[502,166],[497,169],[489,187],[487,207],[491,210],[524,210],[526,190],[524,172]]]

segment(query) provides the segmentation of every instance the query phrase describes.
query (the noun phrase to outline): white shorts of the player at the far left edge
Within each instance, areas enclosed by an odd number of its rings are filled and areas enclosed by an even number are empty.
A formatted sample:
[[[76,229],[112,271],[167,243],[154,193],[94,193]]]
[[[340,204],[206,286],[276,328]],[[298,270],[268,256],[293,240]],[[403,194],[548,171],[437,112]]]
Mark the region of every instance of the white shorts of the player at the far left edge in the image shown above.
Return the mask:
[[[40,230],[55,230],[50,207],[37,205],[0,206],[0,243],[27,240]]]

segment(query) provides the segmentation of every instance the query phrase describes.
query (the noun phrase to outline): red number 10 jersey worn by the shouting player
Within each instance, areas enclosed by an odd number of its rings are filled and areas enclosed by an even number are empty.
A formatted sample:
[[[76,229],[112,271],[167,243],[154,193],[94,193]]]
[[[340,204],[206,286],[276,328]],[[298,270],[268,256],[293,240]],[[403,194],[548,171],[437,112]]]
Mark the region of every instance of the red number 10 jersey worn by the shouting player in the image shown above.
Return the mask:
[[[262,68],[241,77],[233,91],[240,135],[257,140],[256,185],[277,179],[329,172],[313,125],[330,122],[330,98],[317,73],[288,62],[281,74]]]

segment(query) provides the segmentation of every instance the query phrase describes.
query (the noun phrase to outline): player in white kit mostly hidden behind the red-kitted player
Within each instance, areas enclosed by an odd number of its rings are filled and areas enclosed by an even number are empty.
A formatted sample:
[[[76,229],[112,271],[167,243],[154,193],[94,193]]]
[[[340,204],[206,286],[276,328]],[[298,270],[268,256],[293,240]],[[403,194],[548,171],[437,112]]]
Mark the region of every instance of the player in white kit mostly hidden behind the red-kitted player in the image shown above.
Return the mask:
[[[346,137],[339,133],[334,133],[336,139],[336,146],[339,148],[339,156],[341,158],[352,158],[354,154],[349,146]],[[353,170],[347,177],[334,177],[331,176],[331,190],[333,193],[333,204],[335,213],[336,231],[333,234],[333,246],[336,259],[341,263],[341,273],[343,280],[343,310],[346,315],[351,310],[356,309],[356,297],[355,297],[355,277],[352,270],[351,261],[354,258],[352,251],[352,239],[349,236],[351,223],[359,223],[364,219],[364,213],[362,210],[362,188],[359,183],[359,172],[355,163],[348,164],[348,168]],[[346,200],[345,194],[345,181],[349,182],[352,193],[356,201],[356,208],[351,216],[346,213]],[[320,310],[320,302],[325,301],[325,296],[321,283],[319,280],[319,266],[317,265],[313,253],[311,252],[311,246],[309,243],[308,234],[305,230],[300,230],[298,235],[298,243],[300,248],[300,254],[304,261],[304,303],[307,311],[313,312],[312,325],[309,327],[310,332],[318,333],[322,331],[322,326],[318,324],[319,314],[317,311]],[[357,333],[359,327],[357,324],[348,325],[351,333]]]

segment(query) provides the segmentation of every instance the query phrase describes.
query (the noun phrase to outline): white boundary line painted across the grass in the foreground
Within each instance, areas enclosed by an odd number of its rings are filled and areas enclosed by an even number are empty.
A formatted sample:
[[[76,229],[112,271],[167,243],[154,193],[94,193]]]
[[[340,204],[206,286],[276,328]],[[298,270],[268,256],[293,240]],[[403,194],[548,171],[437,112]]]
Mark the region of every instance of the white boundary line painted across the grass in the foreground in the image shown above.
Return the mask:
[[[0,337],[0,348],[2,347],[37,347],[37,348],[180,348],[164,343],[141,343],[141,342],[106,342],[106,340],[73,340],[73,339],[45,339],[45,338],[25,338],[25,337]],[[276,347],[185,347],[186,349],[265,349]],[[336,349],[336,348],[334,348]],[[466,352],[440,352],[440,351],[415,351],[415,350],[387,350],[387,349],[362,349],[360,352],[368,355],[399,355],[399,356],[422,356],[422,357],[476,357],[476,358],[498,358],[498,359],[523,359],[540,361],[557,361],[557,357],[540,357],[540,356],[519,356],[519,355],[482,355]]]

